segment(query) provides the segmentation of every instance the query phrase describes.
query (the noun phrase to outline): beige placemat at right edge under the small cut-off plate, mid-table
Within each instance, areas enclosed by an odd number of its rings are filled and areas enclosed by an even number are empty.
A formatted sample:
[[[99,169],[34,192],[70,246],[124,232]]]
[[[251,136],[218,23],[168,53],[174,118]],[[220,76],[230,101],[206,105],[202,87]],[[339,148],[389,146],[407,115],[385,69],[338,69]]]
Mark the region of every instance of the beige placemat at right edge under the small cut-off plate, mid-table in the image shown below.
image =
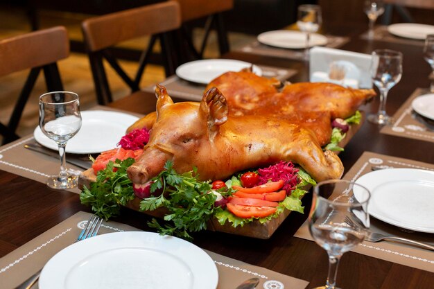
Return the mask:
[[[427,123],[413,111],[411,103],[413,99],[422,94],[428,94],[428,89],[418,88],[406,100],[399,110],[393,115],[394,124],[381,128],[383,134],[391,134],[397,137],[408,137],[409,139],[419,139],[420,141],[430,141],[434,143],[434,121]]]

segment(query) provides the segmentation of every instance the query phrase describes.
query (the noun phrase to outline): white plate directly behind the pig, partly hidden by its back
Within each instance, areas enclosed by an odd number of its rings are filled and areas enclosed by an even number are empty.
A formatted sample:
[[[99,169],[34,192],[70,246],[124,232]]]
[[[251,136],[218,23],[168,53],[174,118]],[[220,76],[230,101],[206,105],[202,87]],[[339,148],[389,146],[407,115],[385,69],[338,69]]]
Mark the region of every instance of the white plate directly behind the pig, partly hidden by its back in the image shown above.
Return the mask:
[[[241,69],[251,66],[251,63],[240,60],[196,60],[180,65],[180,67],[176,69],[176,75],[184,80],[207,85],[211,80],[214,80],[214,78],[221,76],[227,71],[241,71]],[[262,70],[256,65],[253,66],[253,72],[258,76],[262,76]]]

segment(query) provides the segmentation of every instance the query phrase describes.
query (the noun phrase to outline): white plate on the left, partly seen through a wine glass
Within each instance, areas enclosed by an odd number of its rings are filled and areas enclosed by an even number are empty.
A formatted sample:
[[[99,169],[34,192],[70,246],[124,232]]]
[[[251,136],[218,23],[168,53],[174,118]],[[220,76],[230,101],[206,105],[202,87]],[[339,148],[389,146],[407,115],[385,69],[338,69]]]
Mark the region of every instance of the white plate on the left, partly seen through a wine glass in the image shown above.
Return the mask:
[[[82,125],[78,133],[67,142],[67,152],[94,154],[116,148],[127,128],[137,121],[137,116],[105,110],[81,112]],[[46,148],[58,150],[55,141],[46,137],[40,127],[33,132],[35,140]]]

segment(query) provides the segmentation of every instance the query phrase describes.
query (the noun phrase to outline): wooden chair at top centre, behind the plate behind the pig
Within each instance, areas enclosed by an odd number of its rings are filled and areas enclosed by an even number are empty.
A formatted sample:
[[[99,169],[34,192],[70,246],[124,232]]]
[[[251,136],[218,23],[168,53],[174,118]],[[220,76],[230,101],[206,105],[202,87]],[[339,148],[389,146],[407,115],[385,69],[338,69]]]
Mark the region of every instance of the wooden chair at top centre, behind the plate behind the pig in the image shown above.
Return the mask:
[[[173,0],[180,3],[181,6],[181,18],[182,18],[182,40],[185,42],[185,46],[191,53],[192,57],[187,55],[187,58],[202,59],[203,53],[207,46],[209,33],[212,29],[215,29],[218,37],[218,48],[220,55],[229,51],[229,41],[227,38],[227,31],[225,29],[223,21],[223,12],[232,10],[234,8],[234,0]],[[205,22],[205,34],[202,39],[200,49],[196,49],[193,44],[193,37],[191,33],[191,27],[189,24],[191,21],[195,21],[206,17]],[[182,62],[186,62],[191,59],[186,59]]]

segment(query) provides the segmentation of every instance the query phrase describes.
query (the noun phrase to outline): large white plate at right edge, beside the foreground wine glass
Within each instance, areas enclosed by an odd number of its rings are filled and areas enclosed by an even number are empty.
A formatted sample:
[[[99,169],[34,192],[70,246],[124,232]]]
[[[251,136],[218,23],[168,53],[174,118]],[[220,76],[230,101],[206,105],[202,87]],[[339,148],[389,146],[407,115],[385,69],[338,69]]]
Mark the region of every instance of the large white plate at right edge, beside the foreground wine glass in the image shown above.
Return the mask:
[[[434,172],[414,168],[375,170],[356,180],[371,192],[368,211],[391,225],[434,233]]]

